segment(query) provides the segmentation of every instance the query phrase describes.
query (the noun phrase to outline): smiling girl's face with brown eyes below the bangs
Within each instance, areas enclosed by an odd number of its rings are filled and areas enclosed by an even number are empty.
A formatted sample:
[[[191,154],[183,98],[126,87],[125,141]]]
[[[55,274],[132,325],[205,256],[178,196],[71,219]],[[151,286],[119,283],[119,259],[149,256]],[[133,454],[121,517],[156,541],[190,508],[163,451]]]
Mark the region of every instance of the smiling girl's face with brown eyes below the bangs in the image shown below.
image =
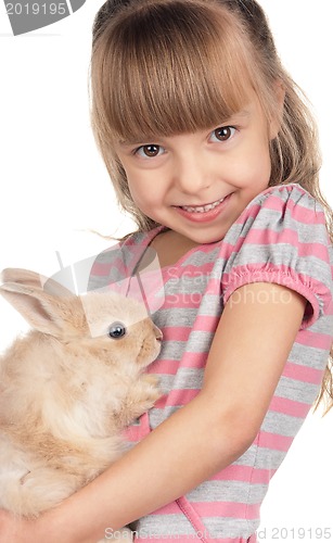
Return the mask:
[[[256,96],[243,111],[207,130],[116,144],[137,206],[196,243],[223,238],[268,187],[268,126]]]

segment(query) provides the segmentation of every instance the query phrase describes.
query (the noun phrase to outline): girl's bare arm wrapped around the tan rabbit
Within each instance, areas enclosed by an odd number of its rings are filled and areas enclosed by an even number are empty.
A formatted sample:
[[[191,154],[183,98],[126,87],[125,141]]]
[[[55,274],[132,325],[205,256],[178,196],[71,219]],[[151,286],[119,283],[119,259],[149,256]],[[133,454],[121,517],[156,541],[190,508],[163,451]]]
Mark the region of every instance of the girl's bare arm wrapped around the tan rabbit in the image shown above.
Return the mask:
[[[262,303],[267,300],[267,303]],[[287,303],[286,303],[287,300]],[[261,301],[261,303],[260,303]],[[305,311],[305,299],[271,283],[236,290],[226,304],[202,391],[94,481],[16,526],[2,543],[95,543],[158,509],[240,457],[255,439]]]

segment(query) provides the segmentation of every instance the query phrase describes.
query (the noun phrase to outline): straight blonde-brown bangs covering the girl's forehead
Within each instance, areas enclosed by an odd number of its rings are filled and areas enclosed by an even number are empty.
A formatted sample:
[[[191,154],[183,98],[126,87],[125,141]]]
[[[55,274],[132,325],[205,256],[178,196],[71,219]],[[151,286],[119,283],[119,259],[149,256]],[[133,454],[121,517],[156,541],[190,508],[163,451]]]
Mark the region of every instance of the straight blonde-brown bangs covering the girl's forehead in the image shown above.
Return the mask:
[[[104,137],[142,141],[192,132],[244,109],[254,87],[251,53],[232,14],[215,4],[162,0],[121,15],[101,45],[95,78]]]

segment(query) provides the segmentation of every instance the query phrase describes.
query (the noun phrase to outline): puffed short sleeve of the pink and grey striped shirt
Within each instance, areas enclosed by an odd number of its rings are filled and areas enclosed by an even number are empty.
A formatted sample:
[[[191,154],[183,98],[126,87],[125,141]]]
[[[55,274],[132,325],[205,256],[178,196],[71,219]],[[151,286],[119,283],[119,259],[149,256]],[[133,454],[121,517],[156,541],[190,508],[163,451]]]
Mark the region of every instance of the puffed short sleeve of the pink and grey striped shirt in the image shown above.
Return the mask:
[[[240,287],[278,283],[307,300],[302,328],[332,314],[332,245],[318,201],[296,184],[256,197],[227,232],[226,304]]]

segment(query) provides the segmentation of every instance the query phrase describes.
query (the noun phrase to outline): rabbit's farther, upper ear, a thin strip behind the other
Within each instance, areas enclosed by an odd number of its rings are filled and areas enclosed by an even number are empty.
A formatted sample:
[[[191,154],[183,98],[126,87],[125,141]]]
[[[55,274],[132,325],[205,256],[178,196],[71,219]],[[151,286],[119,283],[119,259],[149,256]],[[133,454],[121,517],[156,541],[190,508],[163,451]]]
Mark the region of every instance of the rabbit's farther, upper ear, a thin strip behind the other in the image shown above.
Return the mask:
[[[2,282],[16,282],[26,287],[43,289],[49,294],[54,296],[71,296],[73,292],[66,289],[54,279],[49,279],[36,272],[21,268],[5,268],[1,272]]]

